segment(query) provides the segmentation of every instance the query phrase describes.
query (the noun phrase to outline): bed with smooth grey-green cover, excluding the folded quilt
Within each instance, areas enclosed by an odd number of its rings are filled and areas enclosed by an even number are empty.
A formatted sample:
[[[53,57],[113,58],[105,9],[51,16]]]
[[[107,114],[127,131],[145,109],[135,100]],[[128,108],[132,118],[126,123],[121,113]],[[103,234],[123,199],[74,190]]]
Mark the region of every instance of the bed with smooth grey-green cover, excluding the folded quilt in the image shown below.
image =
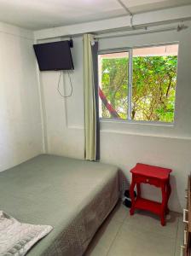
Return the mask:
[[[116,166],[41,154],[0,172],[0,209],[54,228],[28,256],[83,255],[118,200]]]

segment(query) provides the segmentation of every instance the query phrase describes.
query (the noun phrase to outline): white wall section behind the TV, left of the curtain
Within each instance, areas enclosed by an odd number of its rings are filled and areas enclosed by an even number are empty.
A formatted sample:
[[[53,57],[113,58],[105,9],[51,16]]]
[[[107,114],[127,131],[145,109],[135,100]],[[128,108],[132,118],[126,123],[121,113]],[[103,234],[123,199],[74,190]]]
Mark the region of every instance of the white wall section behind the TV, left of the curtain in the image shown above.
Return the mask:
[[[75,39],[74,44],[72,57],[75,71],[70,72],[73,87],[72,97],[63,99],[57,91],[61,72],[40,73],[41,90],[43,92],[44,134],[46,137],[46,150],[49,154],[63,154],[84,158],[82,38]],[[67,72],[61,75],[60,89],[66,95],[71,90]]]

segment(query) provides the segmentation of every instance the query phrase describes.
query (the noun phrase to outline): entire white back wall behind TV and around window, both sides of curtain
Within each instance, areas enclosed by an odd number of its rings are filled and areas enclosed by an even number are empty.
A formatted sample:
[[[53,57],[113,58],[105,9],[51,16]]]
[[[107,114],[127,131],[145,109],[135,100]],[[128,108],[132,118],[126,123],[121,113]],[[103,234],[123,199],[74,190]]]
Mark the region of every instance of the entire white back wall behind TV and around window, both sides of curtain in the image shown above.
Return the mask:
[[[173,169],[170,207],[181,212],[184,189],[191,170],[191,23],[182,32],[158,32],[126,38],[101,39],[100,49],[179,42],[176,120],[174,126],[142,125],[101,121],[101,161],[120,166],[130,180],[130,168],[137,162]],[[60,40],[57,38],[57,40]],[[55,39],[56,41],[56,39]],[[72,56],[73,95],[62,99],[56,87],[57,72],[41,73],[47,152],[76,158],[84,157],[83,41],[74,39]],[[62,83],[67,90],[67,73]],[[147,186],[146,186],[147,187]],[[150,198],[159,197],[157,189],[144,189]]]

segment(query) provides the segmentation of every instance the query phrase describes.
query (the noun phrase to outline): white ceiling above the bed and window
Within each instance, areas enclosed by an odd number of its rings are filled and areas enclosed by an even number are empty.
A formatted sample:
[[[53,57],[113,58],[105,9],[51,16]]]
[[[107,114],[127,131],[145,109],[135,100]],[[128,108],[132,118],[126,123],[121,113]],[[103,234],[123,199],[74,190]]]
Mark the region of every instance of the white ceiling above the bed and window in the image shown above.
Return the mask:
[[[191,4],[191,0],[121,0],[133,14]],[[117,0],[0,0],[0,21],[39,30],[126,15]]]

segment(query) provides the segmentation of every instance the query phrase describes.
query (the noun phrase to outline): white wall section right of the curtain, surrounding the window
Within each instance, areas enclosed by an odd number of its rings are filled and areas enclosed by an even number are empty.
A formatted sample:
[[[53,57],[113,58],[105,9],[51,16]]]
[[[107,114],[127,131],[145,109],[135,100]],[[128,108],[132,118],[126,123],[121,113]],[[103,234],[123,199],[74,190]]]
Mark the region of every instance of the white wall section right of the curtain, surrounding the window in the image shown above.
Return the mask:
[[[179,42],[175,124],[142,125],[101,122],[101,160],[129,170],[137,162],[165,166],[171,175],[171,209],[181,212],[188,174],[191,171],[191,23],[182,32],[159,32],[142,36],[101,40],[100,49]],[[145,186],[144,195],[159,198],[157,189]]]

